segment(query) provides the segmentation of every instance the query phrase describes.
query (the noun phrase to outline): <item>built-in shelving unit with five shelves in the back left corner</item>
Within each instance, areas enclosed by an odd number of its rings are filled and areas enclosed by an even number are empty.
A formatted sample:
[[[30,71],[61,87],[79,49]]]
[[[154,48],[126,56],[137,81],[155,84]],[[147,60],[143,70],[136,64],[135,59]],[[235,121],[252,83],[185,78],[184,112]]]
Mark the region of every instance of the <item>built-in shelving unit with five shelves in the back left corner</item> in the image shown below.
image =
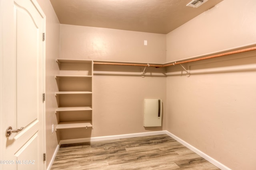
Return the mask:
[[[92,127],[93,61],[57,59],[60,74],[56,75],[58,108],[55,110],[58,129]]]

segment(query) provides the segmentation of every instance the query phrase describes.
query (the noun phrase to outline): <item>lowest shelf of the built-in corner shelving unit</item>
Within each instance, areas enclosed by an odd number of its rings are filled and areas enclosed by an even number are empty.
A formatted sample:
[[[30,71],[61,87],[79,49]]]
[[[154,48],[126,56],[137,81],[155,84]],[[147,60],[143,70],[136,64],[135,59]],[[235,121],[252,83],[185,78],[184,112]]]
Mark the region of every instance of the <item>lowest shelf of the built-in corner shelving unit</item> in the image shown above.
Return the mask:
[[[92,121],[82,120],[82,121],[60,121],[56,126],[56,129],[71,129],[71,128],[81,128],[81,127],[92,127]]]

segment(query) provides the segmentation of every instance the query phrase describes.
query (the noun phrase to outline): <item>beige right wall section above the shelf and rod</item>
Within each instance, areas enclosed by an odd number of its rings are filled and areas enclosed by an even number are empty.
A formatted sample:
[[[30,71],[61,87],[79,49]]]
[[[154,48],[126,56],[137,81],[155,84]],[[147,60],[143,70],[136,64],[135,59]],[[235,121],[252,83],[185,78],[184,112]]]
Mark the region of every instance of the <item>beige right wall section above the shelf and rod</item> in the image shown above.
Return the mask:
[[[256,42],[256,1],[224,0],[167,34],[167,62]]]

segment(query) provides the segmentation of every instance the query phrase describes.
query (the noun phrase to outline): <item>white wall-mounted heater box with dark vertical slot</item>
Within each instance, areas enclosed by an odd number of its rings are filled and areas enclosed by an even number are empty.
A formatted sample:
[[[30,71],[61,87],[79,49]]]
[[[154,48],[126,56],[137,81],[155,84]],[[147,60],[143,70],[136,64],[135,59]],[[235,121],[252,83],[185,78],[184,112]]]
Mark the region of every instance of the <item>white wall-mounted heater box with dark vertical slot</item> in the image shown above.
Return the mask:
[[[144,127],[162,126],[162,100],[144,99]]]

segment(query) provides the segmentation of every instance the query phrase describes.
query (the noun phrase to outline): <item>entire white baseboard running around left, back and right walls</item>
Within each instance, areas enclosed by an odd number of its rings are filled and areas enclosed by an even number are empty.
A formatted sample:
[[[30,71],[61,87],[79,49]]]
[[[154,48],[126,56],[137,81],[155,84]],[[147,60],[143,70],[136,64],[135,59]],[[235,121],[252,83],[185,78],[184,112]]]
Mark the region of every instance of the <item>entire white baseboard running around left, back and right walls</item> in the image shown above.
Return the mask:
[[[181,143],[182,145],[184,145],[188,149],[192,150],[196,154],[200,155],[202,158],[208,160],[209,162],[211,162],[212,164],[214,164],[215,166],[217,166],[221,170],[231,170],[227,166],[223,165],[222,163],[218,162],[214,158],[210,157],[209,155],[205,154],[201,150],[193,147],[189,143],[183,141],[182,139],[180,139],[179,137],[175,136],[174,134],[172,134],[168,131],[154,131],[154,132],[144,132],[144,133],[131,133],[131,134],[125,134],[125,135],[112,135],[112,136],[103,136],[103,137],[61,140],[59,145],[56,147],[56,150],[55,150],[55,152],[52,156],[52,159],[50,161],[50,164],[48,165],[47,170],[50,170],[50,168],[52,166],[52,163],[55,159],[55,156],[58,152],[58,149],[59,149],[60,145],[62,145],[62,144],[83,143],[83,142],[93,142],[93,141],[106,141],[106,140],[112,140],[112,139],[124,139],[124,138],[131,138],[131,137],[143,137],[143,136],[163,135],[163,134],[166,134],[166,135],[172,137],[173,139],[175,139],[176,141],[178,141],[179,143]]]

